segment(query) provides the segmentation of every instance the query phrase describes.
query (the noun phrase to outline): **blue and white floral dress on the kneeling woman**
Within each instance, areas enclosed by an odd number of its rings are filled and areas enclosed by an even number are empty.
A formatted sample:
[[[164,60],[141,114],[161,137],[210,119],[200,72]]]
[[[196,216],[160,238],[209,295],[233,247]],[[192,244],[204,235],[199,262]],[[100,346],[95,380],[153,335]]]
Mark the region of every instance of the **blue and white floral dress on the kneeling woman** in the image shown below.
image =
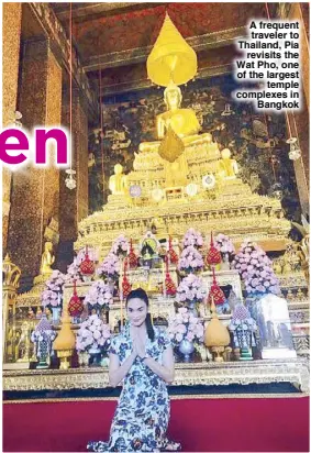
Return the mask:
[[[154,328],[155,339],[146,340],[146,352],[158,363],[170,344],[167,334]],[[130,324],[114,336],[110,352],[116,354],[120,364],[132,353]],[[109,442],[89,442],[95,452],[153,452],[180,450],[180,444],[168,441],[166,430],[169,420],[169,397],[165,382],[140,357],[135,358],[123,379],[123,389],[112,420]]]

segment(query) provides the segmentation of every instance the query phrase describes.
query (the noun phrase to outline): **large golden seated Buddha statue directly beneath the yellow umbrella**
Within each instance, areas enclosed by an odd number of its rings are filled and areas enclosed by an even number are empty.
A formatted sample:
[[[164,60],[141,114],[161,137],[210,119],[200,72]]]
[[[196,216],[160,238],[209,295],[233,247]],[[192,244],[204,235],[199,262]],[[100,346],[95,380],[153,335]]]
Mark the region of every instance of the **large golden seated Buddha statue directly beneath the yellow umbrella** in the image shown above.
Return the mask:
[[[180,109],[181,100],[180,88],[170,81],[164,91],[167,111],[156,118],[157,137],[163,140],[171,130],[181,140],[184,148],[190,145],[211,143],[211,134],[198,134],[200,124],[195,111],[192,109]],[[140,151],[143,153],[157,152],[160,143],[160,141],[143,142],[140,145]],[[166,187],[186,186],[188,184],[189,169],[185,152],[175,162],[165,159],[164,165]]]

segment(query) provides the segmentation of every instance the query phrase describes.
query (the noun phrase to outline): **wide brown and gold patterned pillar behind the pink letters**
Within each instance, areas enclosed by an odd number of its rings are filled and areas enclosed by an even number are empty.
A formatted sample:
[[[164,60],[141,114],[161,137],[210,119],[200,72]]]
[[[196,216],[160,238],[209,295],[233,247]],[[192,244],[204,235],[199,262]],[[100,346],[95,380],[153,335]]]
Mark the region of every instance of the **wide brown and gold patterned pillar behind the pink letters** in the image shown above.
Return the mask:
[[[19,110],[23,126],[60,124],[62,68],[47,41],[25,41]],[[54,162],[54,143],[48,144]],[[23,277],[38,274],[47,226],[58,222],[59,170],[54,166],[36,169],[31,166],[12,178],[11,213],[8,250],[21,267]],[[29,281],[30,283],[30,281]]]

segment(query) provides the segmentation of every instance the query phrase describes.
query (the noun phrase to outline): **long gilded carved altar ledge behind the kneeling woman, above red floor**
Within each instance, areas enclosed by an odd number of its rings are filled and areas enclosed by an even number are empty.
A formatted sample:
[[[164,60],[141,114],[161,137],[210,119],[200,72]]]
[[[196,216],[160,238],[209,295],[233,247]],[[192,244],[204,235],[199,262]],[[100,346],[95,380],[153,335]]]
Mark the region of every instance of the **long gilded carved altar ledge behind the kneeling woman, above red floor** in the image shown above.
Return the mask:
[[[269,360],[176,364],[174,385],[230,385],[291,383],[309,394],[308,360]],[[3,372],[3,390],[59,390],[104,388],[109,386],[107,368],[10,371]]]

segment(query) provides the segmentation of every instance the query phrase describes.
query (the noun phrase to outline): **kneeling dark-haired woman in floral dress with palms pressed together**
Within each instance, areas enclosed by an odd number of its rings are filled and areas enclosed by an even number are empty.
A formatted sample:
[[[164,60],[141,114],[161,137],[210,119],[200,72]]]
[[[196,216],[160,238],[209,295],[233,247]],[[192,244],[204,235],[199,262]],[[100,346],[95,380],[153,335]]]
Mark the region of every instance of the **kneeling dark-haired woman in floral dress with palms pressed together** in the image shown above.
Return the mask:
[[[169,398],[174,380],[174,353],[168,336],[155,329],[147,294],[138,288],[126,298],[129,323],[110,347],[109,379],[123,389],[112,420],[109,442],[89,442],[96,452],[178,451],[168,441]]]

